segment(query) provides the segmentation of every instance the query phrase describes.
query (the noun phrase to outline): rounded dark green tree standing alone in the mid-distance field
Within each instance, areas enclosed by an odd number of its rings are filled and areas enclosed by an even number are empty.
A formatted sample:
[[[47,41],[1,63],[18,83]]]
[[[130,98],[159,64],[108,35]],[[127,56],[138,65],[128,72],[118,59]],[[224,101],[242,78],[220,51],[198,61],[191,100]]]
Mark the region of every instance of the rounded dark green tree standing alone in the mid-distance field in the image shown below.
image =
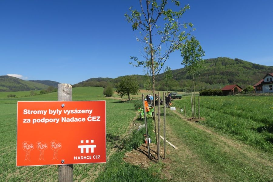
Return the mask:
[[[116,93],[118,93],[120,97],[128,95],[128,100],[130,100],[130,94],[135,95],[138,92],[138,83],[132,75],[124,76],[116,85]]]

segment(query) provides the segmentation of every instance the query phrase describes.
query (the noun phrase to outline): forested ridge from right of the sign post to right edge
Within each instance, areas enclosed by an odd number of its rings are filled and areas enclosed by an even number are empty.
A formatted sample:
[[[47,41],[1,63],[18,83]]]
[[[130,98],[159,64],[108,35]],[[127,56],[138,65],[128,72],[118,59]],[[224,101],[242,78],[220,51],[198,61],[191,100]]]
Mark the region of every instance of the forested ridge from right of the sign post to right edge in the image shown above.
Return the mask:
[[[168,65],[168,62],[166,64]],[[206,88],[220,88],[228,84],[238,84],[242,88],[248,85],[253,86],[260,81],[267,73],[273,72],[273,66],[263,66],[241,59],[231,59],[218,57],[204,60],[204,69],[201,70],[200,76],[196,79],[196,90]],[[170,66],[171,67],[171,66]],[[133,69],[133,68],[132,68]],[[173,79],[169,82],[168,90],[185,91],[192,88],[190,76],[184,68],[172,70]],[[145,78],[141,75],[135,75],[139,82],[140,88],[144,88]],[[115,86],[123,76],[118,78],[91,78],[86,81],[73,85],[80,86]],[[156,90],[167,90],[164,74],[156,77]]]

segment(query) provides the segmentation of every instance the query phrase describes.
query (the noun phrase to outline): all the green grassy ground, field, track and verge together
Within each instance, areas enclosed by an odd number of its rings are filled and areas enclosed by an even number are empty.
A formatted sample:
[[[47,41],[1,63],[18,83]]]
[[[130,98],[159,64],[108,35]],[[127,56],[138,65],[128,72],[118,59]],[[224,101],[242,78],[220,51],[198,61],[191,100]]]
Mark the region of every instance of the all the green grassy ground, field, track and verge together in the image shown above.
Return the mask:
[[[273,181],[272,96],[202,96],[199,122],[190,120],[190,96],[173,100],[176,111],[166,109],[166,139],[178,149],[168,146],[170,163],[163,160],[144,169],[123,161],[124,153],[142,142],[143,130],[132,127],[144,123],[136,109],[141,93],[130,96],[131,101],[102,93],[99,87],[72,89],[72,100],[106,100],[107,163],[74,164],[74,181]],[[28,95],[0,92],[0,181],[58,181],[58,166],[16,167],[17,101],[58,100],[57,93]],[[196,103],[198,108],[198,96]],[[162,112],[163,106],[163,125]],[[198,118],[198,109],[196,113]]]

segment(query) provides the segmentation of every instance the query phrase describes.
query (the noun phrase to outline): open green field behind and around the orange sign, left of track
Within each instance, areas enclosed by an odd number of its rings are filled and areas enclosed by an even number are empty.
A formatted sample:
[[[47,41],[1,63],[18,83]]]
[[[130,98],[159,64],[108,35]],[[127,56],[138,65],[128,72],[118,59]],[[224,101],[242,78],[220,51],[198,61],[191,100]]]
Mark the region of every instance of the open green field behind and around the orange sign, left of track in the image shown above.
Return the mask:
[[[127,128],[136,117],[136,110],[133,103],[107,99],[102,92],[103,88],[99,87],[73,88],[72,100],[106,100],[106,153],[109,161],[112,154],[120,150],[117,146],[121,145],[122,137],[127,135]],[[56,101],[57,92],[18,98],[8,98],[8,94],[2,93],[0,97],[0,181],[58,181],[58,166],[16,167],[17,101]],[[26,93],[12,94],[20,96]],[[73,178],[75,181],[94,181],[104,167],[105,163],[75,164]]]

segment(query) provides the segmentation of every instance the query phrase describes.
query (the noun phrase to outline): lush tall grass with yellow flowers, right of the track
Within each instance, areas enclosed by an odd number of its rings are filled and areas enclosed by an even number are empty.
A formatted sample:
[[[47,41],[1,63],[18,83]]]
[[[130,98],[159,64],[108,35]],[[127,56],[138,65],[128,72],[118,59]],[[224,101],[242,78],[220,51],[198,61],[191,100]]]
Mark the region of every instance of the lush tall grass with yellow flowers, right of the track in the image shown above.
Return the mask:
[[[190,97],[173,103],[177,108],[185,106],[187,117],[191,117]],[[273,153],[272,96],[201,96],[200,116],[205,119],[203,124]]]

